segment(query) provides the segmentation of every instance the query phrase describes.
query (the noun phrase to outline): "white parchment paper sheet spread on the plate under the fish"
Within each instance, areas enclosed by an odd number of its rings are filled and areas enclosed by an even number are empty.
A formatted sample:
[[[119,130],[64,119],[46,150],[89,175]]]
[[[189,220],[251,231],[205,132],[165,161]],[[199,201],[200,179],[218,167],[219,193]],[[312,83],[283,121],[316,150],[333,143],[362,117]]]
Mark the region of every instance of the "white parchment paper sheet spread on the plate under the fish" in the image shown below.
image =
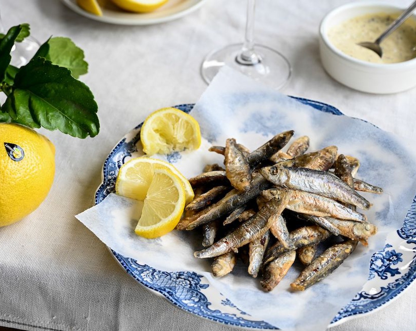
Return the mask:
[[[303,292],[290,290],[301,271],[294,265],[272,292],[265,293],[260,280],[248,276],[242,266],[220,279],[211,276],[210,261],[193,257],[202,248],[201,237],[195,233],[172,231],[151,240],[136,236],[140,206],[134,200],[110,194],[77,219],[111,249],[141,264],[203,274],[253,319],[288,331],[324,330],[366,282],[371,255],[384,247],[388,233],[402,226],[416,191],[415,153],[405,142],[370,123],[317,111],[227,67],[211,82],[191,114],[201,125],[203,143],[197,152],[182,153],[176,160],[186,177],[200,173],[205,164],[222,162],[220,156],[208,152],[211,144],[224,145],[225,139],[234,137],[255,149],[288,129],[295,130],[295,138],[308,135],[310,151],[336,145],[339,153],[357,157],[361,167],[356,177],[384,188],[382,195],[363,194],[373,203],[364,214],[379,229],[369,246],[359,244],[337,270]]]

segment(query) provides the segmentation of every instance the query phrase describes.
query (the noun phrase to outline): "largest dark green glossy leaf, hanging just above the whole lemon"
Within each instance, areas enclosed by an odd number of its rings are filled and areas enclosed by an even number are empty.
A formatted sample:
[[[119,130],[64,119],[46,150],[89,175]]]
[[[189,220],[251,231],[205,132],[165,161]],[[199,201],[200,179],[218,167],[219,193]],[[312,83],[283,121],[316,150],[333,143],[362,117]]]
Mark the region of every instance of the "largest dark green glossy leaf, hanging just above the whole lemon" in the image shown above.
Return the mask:
[[[58,129],[79,138],[99,132],[97,103],[87,85],[42,57],[20,68],[2,109],[12,122],[29,127]]]

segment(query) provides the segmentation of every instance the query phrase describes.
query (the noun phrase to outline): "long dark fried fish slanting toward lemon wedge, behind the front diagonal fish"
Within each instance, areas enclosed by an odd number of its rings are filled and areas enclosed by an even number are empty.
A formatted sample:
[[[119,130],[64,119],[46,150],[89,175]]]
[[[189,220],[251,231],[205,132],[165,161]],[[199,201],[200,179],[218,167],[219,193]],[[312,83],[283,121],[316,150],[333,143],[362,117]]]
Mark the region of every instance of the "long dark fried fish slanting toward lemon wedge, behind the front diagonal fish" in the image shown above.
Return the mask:
[[[209,223],[215,219],[225,217],[234,209],[243,206],[251,199],[254,199],[263,189],[270,187],[270,182],[267,182],[262,176],[257,176],[251,183],[251,188],[248,191],[238,191],[233,189],[223,199],[208,207],[209,210],[201,215],[188,225],[187,230],[195,229],[197,226]],[[234,194],[235,193],[235,194]]]

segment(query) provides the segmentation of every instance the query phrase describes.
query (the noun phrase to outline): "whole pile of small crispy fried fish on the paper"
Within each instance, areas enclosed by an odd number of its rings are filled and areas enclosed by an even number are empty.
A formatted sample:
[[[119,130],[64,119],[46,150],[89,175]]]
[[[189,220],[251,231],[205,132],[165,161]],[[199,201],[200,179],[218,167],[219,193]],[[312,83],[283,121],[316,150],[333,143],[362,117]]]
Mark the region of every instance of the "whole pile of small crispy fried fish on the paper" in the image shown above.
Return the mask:
[[[194,255],[214,258],[214,276],[231,272],[240,257],[271,291],[297,257],[305,268],[291,287],[302,291],[376,233],[357,211],[371,206],[357,191],[383,190],[355,178],[359,160],[336,146],[307,152],[309,138],[289,144],[293,134],[277,134],[252,152],[227,139],[225,147],[210,147],[224,155],[225,167],[209,164],[189,180],[195,198],[176,229],[202,229],[206,248]]]

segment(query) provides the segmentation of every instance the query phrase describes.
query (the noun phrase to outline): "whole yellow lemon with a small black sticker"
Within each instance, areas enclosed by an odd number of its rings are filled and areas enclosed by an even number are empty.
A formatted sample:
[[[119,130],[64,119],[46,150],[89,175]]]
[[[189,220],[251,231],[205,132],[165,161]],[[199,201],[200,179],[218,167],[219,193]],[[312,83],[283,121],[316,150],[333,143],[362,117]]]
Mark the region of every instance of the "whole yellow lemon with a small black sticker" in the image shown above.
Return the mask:
[[[52,142],[32,129],[0,123],[0,226],[19,221],[46,198],[55,174]]]

